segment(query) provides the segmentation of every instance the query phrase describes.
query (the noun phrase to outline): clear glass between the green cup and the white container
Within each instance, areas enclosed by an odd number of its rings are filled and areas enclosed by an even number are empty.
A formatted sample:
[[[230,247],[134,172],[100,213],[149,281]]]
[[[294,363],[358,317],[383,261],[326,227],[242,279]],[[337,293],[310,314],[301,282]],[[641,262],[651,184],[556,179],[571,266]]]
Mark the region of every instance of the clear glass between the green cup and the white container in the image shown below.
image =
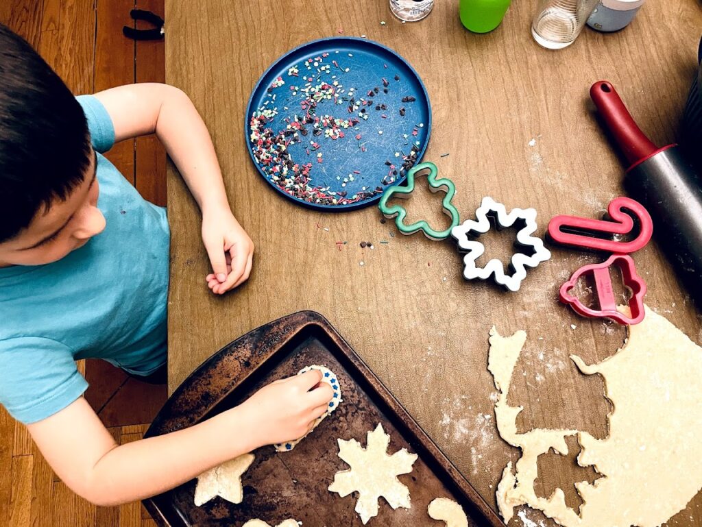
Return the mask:
[[[541,0],[531,22],[540,46],[561,49],[573,44],[600,0]]]

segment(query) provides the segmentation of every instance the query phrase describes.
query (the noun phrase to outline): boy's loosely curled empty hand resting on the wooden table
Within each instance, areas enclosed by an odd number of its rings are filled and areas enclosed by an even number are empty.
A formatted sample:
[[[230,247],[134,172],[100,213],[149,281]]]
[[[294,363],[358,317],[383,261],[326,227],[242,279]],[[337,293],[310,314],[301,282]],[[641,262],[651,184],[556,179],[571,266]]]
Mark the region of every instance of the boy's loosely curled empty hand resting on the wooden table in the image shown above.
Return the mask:
[[[205,279],[213,293],[226,293],[249,278],[253,241],[228,207],[202,211],[202,241],[212,264]]]

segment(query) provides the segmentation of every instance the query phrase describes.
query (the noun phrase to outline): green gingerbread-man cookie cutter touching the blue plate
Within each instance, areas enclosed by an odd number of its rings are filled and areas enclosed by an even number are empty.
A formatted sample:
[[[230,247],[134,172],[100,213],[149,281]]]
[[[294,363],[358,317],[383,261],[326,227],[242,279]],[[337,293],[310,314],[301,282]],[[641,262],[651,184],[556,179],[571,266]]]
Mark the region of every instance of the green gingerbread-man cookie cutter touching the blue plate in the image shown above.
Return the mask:
[[[451,225],[449,225],[449,227],[443,231],[436,231],[432,229],[429,224],[425,222],[425,220],[419,220],[411,225],[405,225],[404,218],[406,218],[407,215],[406,209],[401,205],[388,206],[388,200],[392,198],[409,198],[412,192],[414,192],[414,176],[416,173],[426,170],[429,170],[429,173],[427,174],[429,189],[432,192],[439,192],[439,190],[446,192],[446,196],[444,196],[444,200],[442,201],[442,206],[444,207],[444,214],[451,218]],[[449,180],[448,178],[437,178],[438,174],[439,169],[435,164],[430,163],[429,161],[420,163],[411,168],[411,170],[407,173],[405,185],[393,185],[392,187],[388,187],[388,189],[385,190],[383,197],[380,198],[380,203],[378,204],[380,212],[383,213],[385,218],[395,218],[397,229],[399,232],[402,232],[402,234],[409,235],[421,231],[429,239],[443,240],[448,238],[449,234],[451,234],[451,229],[458,225],[458,210],[453,206],[453,204],[451,204],[453,195],[456,194],[456,185],[453,185],[453,181]]]

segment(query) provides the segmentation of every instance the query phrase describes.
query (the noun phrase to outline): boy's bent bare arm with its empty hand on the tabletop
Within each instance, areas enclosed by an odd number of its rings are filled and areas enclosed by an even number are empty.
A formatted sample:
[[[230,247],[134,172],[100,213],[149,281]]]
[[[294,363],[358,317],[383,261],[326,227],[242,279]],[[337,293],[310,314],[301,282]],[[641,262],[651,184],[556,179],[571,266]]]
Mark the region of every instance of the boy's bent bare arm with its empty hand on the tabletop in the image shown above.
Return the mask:
[[[202,241],[213,272],[213,293],[246,281],[253,242],[232,214],[217,155],[207,128],[190,98],[166,84],[130,84],[96,93],[110,114],[115,141],[156,133],[192,192],[202,213]]]

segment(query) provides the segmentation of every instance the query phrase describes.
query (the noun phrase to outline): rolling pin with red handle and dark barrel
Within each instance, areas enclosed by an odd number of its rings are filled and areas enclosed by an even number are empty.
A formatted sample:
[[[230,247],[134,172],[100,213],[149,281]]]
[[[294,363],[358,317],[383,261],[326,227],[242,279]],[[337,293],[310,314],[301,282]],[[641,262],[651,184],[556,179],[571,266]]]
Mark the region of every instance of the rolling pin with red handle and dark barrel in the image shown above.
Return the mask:
[[[644,135],[611,83],[596,82],[590,97],[630,164],[626,191],[648,209],[658,245],[702,309],[702,180],[677,145],[658,148]]]

